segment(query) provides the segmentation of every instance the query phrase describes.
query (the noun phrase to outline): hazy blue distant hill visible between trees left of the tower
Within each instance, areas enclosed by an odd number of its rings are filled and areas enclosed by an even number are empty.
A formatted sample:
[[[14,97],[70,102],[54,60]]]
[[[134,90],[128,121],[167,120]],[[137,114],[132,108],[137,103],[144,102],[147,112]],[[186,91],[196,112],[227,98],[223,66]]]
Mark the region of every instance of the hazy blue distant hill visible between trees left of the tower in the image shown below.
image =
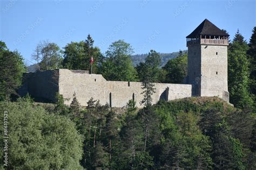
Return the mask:
[[[186,53],[187,50],[182,51],[183,53]],[[161,57],[161,67],[163,67],[168,60],[174,59],[178,56],[179,52],[173,52],[173,53],[160,53]],[[132,55],[132,64],[133,66],[138,65],[140,62],[145,62],[147,54],[136,54]]]

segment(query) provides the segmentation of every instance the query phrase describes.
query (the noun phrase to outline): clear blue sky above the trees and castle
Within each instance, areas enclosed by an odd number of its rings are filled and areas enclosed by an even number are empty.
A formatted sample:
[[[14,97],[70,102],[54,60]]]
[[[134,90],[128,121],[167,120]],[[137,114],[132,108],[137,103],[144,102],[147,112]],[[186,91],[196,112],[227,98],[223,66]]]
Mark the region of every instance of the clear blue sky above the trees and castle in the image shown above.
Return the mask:
[[[239,29],[248,41],[255,10],[255,0],[0,0],[0,40],[17,49],[27,65],[35,63],[31,54],[39,41],[64,47],[89,33],[102,52],[124,39],[134,54],[150,49],[170,53],[186,49],[185,37],[205,18],[232,39]]]

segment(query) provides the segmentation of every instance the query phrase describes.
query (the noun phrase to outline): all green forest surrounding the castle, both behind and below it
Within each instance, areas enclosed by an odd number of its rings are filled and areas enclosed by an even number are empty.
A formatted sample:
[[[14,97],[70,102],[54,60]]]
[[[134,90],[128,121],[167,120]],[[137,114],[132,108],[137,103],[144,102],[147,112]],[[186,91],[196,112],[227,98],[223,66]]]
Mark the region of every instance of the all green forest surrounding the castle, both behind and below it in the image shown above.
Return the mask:
[[[106,80],[142,82],[142,101],[127,101],[120,110],[93,97],[82,107],[76,94],[70,105],[58,93],[55,103],[20,97],[24,58],[0,41],[0,110],[8,112],[8,169],[256,169],[256,27],[249,42],[237,31],[228,46],[228,91],[234,107],[218,97],[152,105],[154,82],[183,82],[186,51],[163,62],[166,55],[152,49],[134,65],[136,55],[132,58],[133,48],[124,40],[114,41],[105,53],[93,43],[90,34],[63,48],[41,41],[31,58],[37,70],[90,70],[93,57],[92,73]],[[144,108],[136,108],[135,102]],[[0,152],[0,169],[4,154]]]

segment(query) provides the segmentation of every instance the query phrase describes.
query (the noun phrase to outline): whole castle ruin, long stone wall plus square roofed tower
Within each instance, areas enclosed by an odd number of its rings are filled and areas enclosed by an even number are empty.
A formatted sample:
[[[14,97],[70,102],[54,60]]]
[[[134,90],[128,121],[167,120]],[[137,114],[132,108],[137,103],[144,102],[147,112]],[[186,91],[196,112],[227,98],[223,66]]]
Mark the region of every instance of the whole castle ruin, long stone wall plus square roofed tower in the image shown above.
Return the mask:
[[[227,89],[228,34],[205,19],[187,38],[188,67],[184,84],[154,83],[152,103],[191,96],[218,96],[229,100]],[[19,93],[54,102],[56,93],[70,104],[76,93],[78,102],[86,106],[93,97],[100,104],[123,108],[129,100],[142,108],[141,82],[107,81],[100,74],[84,70],[55,69],[23,74]]]

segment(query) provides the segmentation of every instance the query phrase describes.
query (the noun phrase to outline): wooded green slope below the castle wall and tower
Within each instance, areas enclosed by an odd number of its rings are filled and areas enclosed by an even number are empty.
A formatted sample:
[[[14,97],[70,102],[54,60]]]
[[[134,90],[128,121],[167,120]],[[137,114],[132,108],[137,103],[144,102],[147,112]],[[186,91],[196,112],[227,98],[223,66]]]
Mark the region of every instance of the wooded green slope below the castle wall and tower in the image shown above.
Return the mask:
[[[10,143],[15,143],[10,150],[15,148],[24,155],[21,163],[19,154],[10,152],[12,167],[32,169],[37,167],[37,157],[47,163],[41,165],[45,168],[255,169],[255,118],[250,111],[236,109],[218,97],[159,101],[150,110],[130,107],[123,114],[93,99],[90,108],[80,109],[78,103],[69,107],[59,99],[55,105],[32,103],[31,98],[0,102],[0,111],[8,108],[10,123],[16,125],[9,132]],[[25,118],[28,123],[16,123]],[[17,129],[24,127],[29,130],[17,136]],[[50,148],[55,143],[58,147],[53,151]],[[46,159],[45,148],[62,157]],[[33,157],[31,150],[36,151]],[[75,157],[70,159],[70,154]]]

